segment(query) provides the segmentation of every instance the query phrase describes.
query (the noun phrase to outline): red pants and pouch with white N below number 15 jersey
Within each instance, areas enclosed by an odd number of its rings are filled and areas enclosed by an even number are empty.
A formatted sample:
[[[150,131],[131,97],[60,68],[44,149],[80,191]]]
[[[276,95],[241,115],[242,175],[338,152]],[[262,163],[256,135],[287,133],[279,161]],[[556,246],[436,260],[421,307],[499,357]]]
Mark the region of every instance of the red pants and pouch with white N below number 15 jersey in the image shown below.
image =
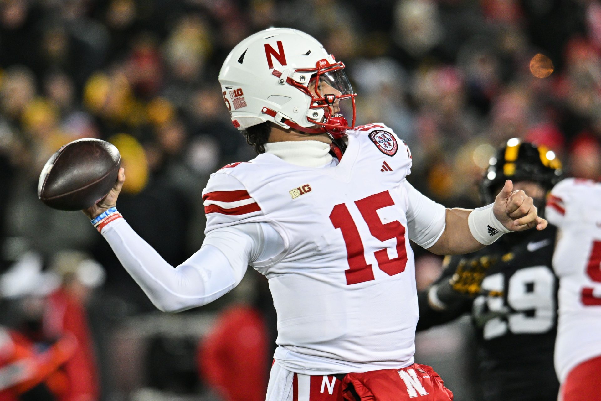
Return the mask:
[[[452,401],[432,367],[374,370],[337,376],[294,374],[292,401]]]

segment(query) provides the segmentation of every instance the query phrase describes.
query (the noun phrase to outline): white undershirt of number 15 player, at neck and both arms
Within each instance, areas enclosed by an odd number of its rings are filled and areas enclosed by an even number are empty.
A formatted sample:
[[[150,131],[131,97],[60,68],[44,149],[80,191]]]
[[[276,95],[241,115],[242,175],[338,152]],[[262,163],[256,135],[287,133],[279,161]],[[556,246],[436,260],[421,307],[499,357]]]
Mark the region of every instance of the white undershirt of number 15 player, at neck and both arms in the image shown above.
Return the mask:
[[[314,155],[305,164],[315,167],[334,165],[325,152],[325,144],[299,141],[293,146],[274,144],[267,151],[293,164],[305,147],[305,155]],[[290,153],[290,158],[287,158]],[[329,156],[329,158],[328,158]],[[319,161],[315,159],[319,158]],[[305,159],[307,160],[307,159]],[[444,231],[445,208],[425,197],[406,181],[409,196],[407,221],[412,240],[426,248],[432,246]],[[127,216],[124,216],[127,217]],[[188,260],[173,268],[142,239],[124,219],[107,224],[102,235],[123,267],[162,311],[178,312],[198,307],[236,287],[248,264],[272,259],[284,251],[284,239],[269,224],[246,223],[210,231],[203,246]]]

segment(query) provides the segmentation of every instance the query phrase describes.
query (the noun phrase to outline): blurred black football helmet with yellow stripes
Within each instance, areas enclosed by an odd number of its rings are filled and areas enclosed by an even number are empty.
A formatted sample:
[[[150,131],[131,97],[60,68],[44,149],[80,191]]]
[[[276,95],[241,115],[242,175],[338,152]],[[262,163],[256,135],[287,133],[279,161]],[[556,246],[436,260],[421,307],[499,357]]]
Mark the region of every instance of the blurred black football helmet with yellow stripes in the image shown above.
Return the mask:
[[[490,158],[480,183],[480,196],[484,204],[493,203],[505,180],[535,182],[545,191],[551,191],[562,174],[561,162],[552,150],[544,145],[511,138]],[[542,216],[545,199],[534,199],[534,206],[538,208],[538,215]]]

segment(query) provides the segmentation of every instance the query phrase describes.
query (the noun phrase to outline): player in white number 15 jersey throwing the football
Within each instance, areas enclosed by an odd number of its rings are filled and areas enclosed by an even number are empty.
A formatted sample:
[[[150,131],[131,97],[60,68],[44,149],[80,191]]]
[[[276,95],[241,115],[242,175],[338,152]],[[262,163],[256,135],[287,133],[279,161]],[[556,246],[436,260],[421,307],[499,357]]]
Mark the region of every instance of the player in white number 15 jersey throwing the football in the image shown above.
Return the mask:
[[[463,254],[547,222],[510,181],[495,203],[474,211],[424,197],[406,181],[407,145],[383,124],[355,126],[356,94],[343,69],[294,29],[267,29],[234,47],[219,82],[234,126],[260,155],[211,176],[206,239],[177,268],[115,209],[123,170],[85,213],[161,310],[219,298],[247,265],[266,275],[278,314],[268,400],[449,400],[439,376],[413,360],[409,239],[436,254]],[[352,103],[350,124],[341,100]]]

